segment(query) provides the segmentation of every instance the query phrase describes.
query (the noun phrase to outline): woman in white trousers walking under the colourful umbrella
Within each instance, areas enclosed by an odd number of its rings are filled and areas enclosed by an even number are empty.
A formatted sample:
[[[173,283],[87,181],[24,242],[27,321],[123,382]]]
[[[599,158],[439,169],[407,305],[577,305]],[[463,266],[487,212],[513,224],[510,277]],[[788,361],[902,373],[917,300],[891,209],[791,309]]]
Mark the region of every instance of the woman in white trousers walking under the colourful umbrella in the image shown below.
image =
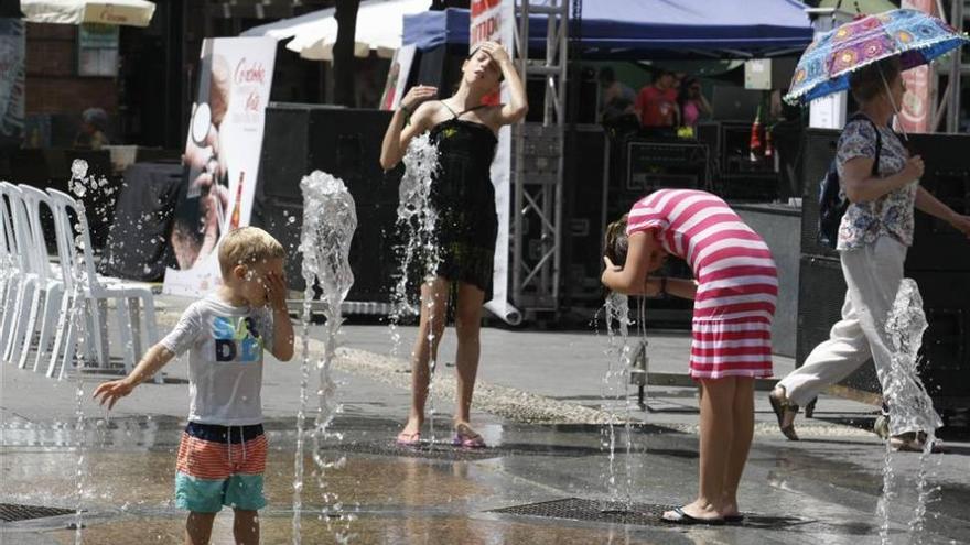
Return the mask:
[[[883,392],[890,391],[892,349],[885,323],[913,243],[914,208],[970,236],[970,217],[957,214],[919,186],[923,159],[910,155],[891,129],[906,91],[899,72],[898,57],[891,57],[859,69],[850,78],[852,95],[865,118],[845,124],[836,154],[839,182],[851,203],[842,217],[837,246],[848,290],[842,319],[832,326],[829,339],[769,394],[778,426],[791,440],[798,440],[794,425],[798,407],[849,377],[870,357]],[[876,131],[880,163],[873,168]],[[894,448],[923,449],[917,430],[901,422],[890,422],[888,427]]]

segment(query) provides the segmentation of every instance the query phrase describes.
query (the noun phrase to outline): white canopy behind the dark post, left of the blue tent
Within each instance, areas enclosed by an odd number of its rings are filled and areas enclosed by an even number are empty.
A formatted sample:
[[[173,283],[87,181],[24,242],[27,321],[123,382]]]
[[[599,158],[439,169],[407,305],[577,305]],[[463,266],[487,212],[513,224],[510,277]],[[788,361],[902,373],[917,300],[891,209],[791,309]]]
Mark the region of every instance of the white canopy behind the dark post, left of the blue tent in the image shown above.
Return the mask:
[[[371,50],[390,58],[401,46],[405,31],[403,17],[420,13],[430,0],[364,0],[357,11],[354,32],[354,54],[366,57]],[[314,11],[292,19],[255,26],[244,36],[269,36],[277,41],[291,39],[287,48],[311,61],[333,61],[337,41],[337,21],[334,8]]]

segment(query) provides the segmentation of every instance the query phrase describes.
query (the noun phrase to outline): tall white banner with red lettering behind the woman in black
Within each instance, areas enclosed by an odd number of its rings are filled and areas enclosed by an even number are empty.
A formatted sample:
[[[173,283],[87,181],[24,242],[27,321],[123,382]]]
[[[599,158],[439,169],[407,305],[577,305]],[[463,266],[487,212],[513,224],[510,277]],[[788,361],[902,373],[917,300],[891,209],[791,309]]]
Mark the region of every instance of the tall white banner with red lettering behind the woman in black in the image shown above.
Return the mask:
[[[515,55],[515,0],[473,0],[468,29],[468,51],[479,42],[498,42],[509,56]],[[497,101],[497,100],[496,100]],[[509,101],[508,86],[502,86],[502,101]],[[487,101],[486,101],[487,102]],[[511,206],[511,127],[498,131],[498,146],[492,162],[492,183],[495,185],[495,211],[498,214],[498,239],[495,243],[495,264],[492,279],[492,301],[485,308],[507,321],[517,321],[518,310],[508,301],[508,230]]]

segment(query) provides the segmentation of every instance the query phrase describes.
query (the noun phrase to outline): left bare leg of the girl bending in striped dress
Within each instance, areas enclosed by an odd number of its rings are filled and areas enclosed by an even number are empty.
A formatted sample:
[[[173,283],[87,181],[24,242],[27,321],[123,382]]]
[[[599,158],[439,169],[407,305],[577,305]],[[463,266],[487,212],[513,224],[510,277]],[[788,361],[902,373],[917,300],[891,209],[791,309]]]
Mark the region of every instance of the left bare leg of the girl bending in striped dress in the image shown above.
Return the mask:
[[[724,447],[730,446],[734,433],[734,378],[701,379],[701,437],[700,482],[698,498],[683,506],[683,512],[696,519],[721,519],[723,516],[724,482],[728,475],[728,457]],[[672,511],[665,519],[676,519]]]

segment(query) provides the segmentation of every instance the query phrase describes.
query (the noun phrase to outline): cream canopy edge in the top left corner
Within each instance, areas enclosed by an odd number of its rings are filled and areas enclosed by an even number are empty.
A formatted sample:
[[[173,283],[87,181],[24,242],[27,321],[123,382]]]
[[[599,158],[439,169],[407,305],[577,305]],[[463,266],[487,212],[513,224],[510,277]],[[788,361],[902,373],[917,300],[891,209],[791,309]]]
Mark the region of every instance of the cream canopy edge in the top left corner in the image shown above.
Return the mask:
[[[20,11],[32,23],[148,26],[155,4],[146,0],[20,0]]]

